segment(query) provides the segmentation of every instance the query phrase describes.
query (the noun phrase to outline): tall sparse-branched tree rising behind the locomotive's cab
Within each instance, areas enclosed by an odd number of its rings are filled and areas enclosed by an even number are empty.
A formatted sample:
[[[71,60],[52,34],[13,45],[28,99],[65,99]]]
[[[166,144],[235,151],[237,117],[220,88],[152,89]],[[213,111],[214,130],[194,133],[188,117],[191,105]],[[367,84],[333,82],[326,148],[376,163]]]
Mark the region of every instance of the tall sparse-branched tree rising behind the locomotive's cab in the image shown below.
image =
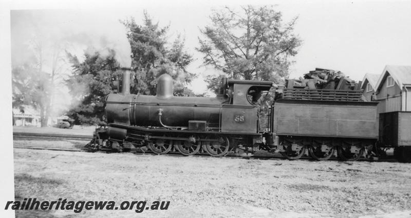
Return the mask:
[[[212,25],[201,29],[204,38],[199,37],[197,48],[204,65],[243,80],[278,83],[288,75],[289,57],[301,45],[293,34],[297,17],[284,25],[273,6],[242,6],[238,12],[229,7],[213,10],[210,19]],[[209,88],[216,86],[214,78],[209,81]]]

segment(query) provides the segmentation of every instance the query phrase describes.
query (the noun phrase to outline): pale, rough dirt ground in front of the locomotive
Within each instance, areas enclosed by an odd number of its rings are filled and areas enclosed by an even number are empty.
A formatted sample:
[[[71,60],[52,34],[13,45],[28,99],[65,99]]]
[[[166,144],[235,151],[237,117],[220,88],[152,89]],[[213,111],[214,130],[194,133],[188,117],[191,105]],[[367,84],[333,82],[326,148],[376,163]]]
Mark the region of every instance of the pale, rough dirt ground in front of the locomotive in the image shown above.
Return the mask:
[[[47,210],[16,217],[411,217],[411,165],[396,162],[16,148],[14,174],[16,200],[171,202],[168,210],[142,213]]]

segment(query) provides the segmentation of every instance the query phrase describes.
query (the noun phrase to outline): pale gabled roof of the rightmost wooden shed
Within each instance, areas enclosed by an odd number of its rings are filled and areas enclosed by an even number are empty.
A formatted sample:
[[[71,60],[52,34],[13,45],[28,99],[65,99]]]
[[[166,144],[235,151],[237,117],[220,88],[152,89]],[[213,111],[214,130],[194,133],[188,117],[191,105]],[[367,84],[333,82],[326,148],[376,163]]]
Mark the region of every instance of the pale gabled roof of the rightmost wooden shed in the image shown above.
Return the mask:
[[[401,88],[404,85],[411,85],[411,66],[387,65],[377,82],[377,89],[380,88],[387,74],[393,76],[394,81]]]

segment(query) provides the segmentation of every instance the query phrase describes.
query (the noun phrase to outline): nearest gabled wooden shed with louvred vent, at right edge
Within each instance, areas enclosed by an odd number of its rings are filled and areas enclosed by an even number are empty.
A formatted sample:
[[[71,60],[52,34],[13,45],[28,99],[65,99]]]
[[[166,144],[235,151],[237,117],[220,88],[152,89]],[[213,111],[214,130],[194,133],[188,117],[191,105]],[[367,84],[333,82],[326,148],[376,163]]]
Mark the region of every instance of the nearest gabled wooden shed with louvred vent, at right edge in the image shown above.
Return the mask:
[[[411,66],[385,66],[376,87],[379,113],[411,111]]]

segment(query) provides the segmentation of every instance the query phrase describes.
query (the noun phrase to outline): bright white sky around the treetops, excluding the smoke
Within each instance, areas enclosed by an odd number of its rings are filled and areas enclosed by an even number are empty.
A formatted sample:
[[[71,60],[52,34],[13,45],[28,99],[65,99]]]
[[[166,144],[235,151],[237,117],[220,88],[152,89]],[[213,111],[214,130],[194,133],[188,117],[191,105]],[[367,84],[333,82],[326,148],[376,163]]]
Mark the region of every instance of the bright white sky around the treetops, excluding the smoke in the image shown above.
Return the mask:
[[[264,3],[264,2],[262,2]],[[267,2],[266,2],[267,3]],[[272,1],[282,11],[284,21],[299,16],[294,32],[304,43],[293,58],[290,77],[298,77],[315,67],[340,70],[354,80],[362,80],[365,73],[381,73],[384,66],[411,64],[411,2],[375,1]],[[229,2],[233,5],[233,3]],[[104,5],[104,4],[103,4]],[[107,7],[109,7],[109,3]],[[95,25],[102,28],[101,33],[113,35],[114,24],[118,19],[133,16],[139,23],[143,9],[160,22],[160,26],[170,24],[170,39],[178,33],[185,36],[186,48],[195,61],[189,70],[203,75],[213,70],[201,68],[202,55],[195,51],[198,46],[199,28],[209,24],[209,14],[216,4],[151,4],[129,7],[116,5],[113,9],[88,7],[69,7],[81,9],[81,19],[73,19],[72,11],[60,11],[61,20],[66,17],[73,26]],[[30,7],[29,7],[30,8]],[[32,8],[32,7],[31,7]],[[42,8],[39,5],[34,8]],[[58,8],[64,8],[64,5]],[[109,7],[111,8],[111,7]],[[50,17],[50,16],[49,16]],[[45,28],[58,28],[59,22],[43,22]],[[110,23],[110,25],[106,25]],[[62,26],[66,25],[61,23]],[[120,25],[120,24],[119,24]],[[81,27],[81,28],[80,28]],[[118,37],[124,37],[119,33]],[[82,50],[78,50],[81,56]],[[204,72],[207,71],[207,72]],[[206,84],[200,76],[193,83],[195,91],[202,91]]]

